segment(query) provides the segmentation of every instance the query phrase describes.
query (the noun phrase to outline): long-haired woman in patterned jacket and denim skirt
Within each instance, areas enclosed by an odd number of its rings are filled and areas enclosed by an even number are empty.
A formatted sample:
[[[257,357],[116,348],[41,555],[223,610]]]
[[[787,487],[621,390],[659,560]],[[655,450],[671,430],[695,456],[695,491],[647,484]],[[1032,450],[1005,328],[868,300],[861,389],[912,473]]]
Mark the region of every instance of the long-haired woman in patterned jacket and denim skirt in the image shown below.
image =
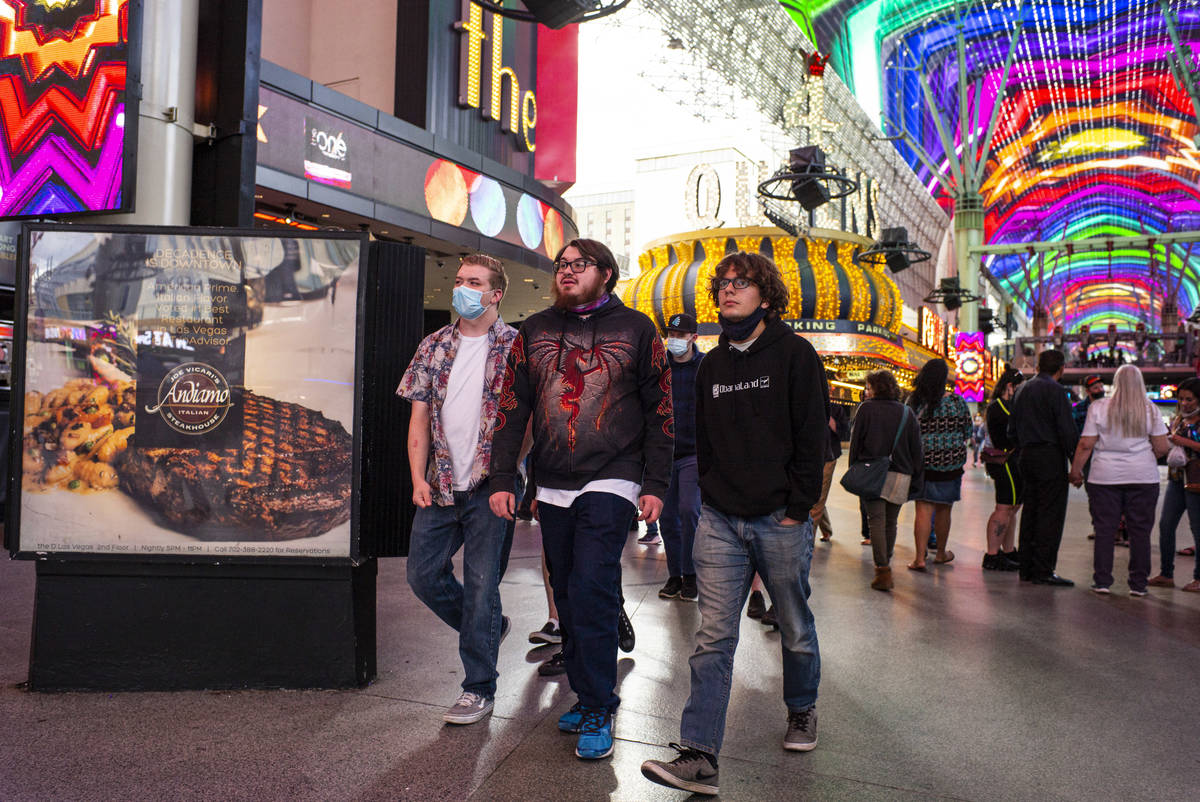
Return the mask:
[[[917,496],[917,517],[913,539],[917,556],[910,570],[925,570],[925,547],[932,522],[937,534],[935,563],[948,563],[954,552],[946,547],[950,535],[950,507],[961,497],[962,466],[967,462],[967,442],[971,439],[971,411],[966,401],[946,391],[949,369],[944,360],[931,359],[917,373],[908,406],[920,421],[920,443],[924,450],[924,487]]]

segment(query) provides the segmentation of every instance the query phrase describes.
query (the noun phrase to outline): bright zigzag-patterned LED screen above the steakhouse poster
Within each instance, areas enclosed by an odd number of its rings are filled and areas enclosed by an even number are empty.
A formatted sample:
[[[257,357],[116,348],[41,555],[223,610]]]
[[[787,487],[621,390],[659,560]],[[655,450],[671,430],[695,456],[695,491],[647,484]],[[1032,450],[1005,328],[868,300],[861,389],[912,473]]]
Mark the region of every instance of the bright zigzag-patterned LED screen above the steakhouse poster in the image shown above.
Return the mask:
[[[132,210],[140,10],[0,0],[0,219]]]

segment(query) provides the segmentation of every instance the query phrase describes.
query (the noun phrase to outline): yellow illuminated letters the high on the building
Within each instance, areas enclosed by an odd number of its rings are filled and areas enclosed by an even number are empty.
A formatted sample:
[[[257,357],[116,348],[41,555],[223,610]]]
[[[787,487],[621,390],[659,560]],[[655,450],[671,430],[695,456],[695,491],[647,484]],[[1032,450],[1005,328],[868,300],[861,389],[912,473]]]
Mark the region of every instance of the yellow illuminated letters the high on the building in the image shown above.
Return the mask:
[[[532,90],[521,91],[521,80],[512,67],[504,66],[504,20],[487,13],[487,30],[484,29],[484,10],[470,0],[462,0],[462,19],[455,30],[462,35],[458,50],[458,104],[478,108],[484,118],[496,120],[505,131],[520,134],[526,150],[533,151],[533,130],[538,125],[538,100]],[[491,40],[490,53],[485,54],[484,40]],[[487,104],[484,96],[484,60],[487,56],[488,82]],[[509,90],[508,108],[504,108],[504,89]]]

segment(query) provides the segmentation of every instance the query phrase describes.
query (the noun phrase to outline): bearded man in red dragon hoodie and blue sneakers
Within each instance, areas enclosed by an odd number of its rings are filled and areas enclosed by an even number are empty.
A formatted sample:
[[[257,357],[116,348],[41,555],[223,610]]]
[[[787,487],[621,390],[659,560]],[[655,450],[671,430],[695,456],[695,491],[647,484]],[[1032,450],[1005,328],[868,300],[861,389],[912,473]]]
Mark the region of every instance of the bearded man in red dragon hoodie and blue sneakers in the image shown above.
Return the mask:
[[[671,370],[654,323],[612,294],[617,261],[575,239],[554,258],[554,304],[509,352],[492,454],[492,511],[511,519],[517,455],[533,415],[538,510],[578,702],[558,720],[583,759],[612,754],[620,552],[653,522],[671,480]]]

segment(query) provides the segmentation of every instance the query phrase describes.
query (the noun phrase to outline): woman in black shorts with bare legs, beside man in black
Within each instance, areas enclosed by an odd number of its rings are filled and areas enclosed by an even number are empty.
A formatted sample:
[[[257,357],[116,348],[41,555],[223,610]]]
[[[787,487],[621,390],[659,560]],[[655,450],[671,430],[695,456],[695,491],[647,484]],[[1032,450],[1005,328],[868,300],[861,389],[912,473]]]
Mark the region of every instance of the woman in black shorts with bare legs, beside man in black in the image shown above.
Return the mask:
[[[1020,561],[1016,558],[1015,540],[1016,513],[1021,509],[1021,493],[1025,483],[1021,479],[1020,460],[1016,443],[1008,439],[1008,405],[1016,394],[1025,377],[1021,371],[1007,369],[996,382],[988,405],[988,439],[990,444],[983,450],[983,460],[988,475],[996,485],[996,508],[988,519],[988,552],[983,556],[984,570],[1016,570]]]

